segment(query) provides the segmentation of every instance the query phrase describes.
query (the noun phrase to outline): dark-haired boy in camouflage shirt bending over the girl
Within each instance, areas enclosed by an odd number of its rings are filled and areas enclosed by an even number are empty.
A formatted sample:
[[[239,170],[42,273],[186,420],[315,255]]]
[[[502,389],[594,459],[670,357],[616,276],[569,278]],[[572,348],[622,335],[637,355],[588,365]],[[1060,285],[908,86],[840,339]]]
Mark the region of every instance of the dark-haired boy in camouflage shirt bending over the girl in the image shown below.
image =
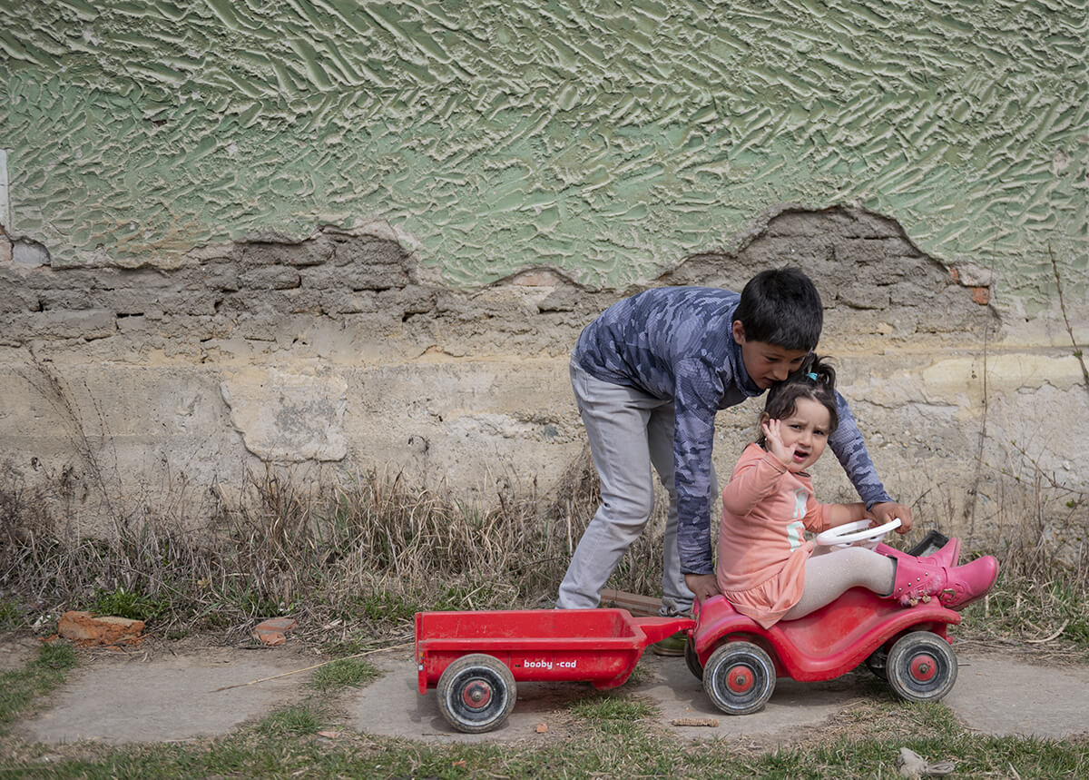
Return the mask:
[[[657,288],[610,306],[578,337],[571,381],[601,479],[601,505],[575,549],[556,607],[598,606],[609,575],[646,526],[658,472],[670,496],[662,613],[717,594],[710,507],[714,415],[759,395],[802,365],[823,324],[820,295],[796,268],[761,271],[742,294],[717,288]],[[881,523],[895,503],[873,471],[851,410],[829,446]],[[672,638],[672,637],[671,637]],[[665,641],[658,653],[683,651]],[[673,647],[672,645],[677,645]],[[666,646],[670,645],[670,646]]]

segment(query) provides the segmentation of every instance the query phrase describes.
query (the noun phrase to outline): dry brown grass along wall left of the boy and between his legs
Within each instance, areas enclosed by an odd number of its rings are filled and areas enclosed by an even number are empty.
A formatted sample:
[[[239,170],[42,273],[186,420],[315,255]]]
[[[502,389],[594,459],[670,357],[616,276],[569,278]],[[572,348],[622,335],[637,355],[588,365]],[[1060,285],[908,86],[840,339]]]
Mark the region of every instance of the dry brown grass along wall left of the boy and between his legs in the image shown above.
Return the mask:
[[[0,604],[38,627],[89,608],[171,634],[232,635],[290,613],[327,634],[340,626],[344,642],[403,635],[419,609],[551,606],[598,500],[588,454],[563,484],[551,501],[503,489],[485,505],[400,474],[315,485],[268,467],[237,496],[215,491],[210,505],[188,486],[138,511],[113,501],[109,531],[89,537],[50,513],[46,488],[5,468]],[[661,546],[647,537],[613,586],[654,592]]]

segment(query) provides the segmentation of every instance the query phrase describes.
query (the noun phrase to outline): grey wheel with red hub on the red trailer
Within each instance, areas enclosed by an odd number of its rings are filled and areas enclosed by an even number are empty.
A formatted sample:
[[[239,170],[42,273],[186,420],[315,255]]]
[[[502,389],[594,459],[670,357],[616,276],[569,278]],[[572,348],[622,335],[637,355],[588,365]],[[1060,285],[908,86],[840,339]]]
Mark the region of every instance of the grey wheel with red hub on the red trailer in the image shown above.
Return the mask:
[[[439,711],[467,734],[491,731],[514,709],[517,688],[506,665],[482,653],[462,656],[442,672],[436,685]]]

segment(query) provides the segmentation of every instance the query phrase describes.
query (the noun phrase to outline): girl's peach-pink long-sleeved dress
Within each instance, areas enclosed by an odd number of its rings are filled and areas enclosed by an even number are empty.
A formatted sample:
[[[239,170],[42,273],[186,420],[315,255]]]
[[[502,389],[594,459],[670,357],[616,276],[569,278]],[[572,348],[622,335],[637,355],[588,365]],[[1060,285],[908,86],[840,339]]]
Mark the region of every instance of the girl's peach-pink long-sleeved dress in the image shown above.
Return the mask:
[[[827,505],[805,472],[792,474],[752,443],[722,491],[719,589],[734,608],[770,629],[802,598],[813,543],[805,531],[829,527]]]

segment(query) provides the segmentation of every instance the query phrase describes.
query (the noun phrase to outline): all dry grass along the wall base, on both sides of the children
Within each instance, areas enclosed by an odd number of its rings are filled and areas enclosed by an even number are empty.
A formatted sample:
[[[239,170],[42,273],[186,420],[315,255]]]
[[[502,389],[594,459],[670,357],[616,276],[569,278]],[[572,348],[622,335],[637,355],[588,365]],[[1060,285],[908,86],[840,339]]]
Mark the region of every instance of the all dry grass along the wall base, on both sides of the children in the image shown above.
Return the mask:
[[[316,484],[268,467],[240,495],[213,490],[210,503],[187,485],[138,511],[114,500],[109,532],[91,538],[50,514],[45,487],[4,468],[0,618],[47,630],[63,609],[89,608],[146,619],[168,636],[213,630],[236,641],[256,619],[292,614],[354,653],[404,641],[420,609],[548,607],[599,500],[587,453],[562,485],[548,501],[501,487],[487,504],[466,503],[400,474]],[[987,519],[1001,533],[971,550],[998,554],[1002,574],[962,635],[1084,655],[1089,501],[1039,470],[1004,475],[1003,490],[1007,514]],[[660,593],[663,514],[659,507],[611,587]]]

